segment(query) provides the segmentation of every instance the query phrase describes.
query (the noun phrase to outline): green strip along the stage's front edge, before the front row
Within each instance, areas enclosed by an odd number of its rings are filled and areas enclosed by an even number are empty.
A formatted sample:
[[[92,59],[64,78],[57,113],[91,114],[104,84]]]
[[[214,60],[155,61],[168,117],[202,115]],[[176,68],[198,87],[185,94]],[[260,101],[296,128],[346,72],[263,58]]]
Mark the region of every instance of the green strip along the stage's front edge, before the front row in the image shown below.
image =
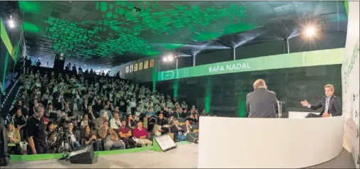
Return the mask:
[[[184,144],[189,144],[187,141],[182,141],[176,143],[176,145],[181,146]],[[117,151],[96,151],[95,156],[107,156],[107,155],[117,155],[124,153],[137,153],[141,151],[150,151],[152,150],[152,146],[142,147],[142,148],[130,148],[125,150],[117,150]],[[50,154],[36,154],[36,155],[11,155],[12,162],[19,161],[29,161],[29,160],[52,160],[52,159],[60,159],[63,157],[62,153],[50,153]]]

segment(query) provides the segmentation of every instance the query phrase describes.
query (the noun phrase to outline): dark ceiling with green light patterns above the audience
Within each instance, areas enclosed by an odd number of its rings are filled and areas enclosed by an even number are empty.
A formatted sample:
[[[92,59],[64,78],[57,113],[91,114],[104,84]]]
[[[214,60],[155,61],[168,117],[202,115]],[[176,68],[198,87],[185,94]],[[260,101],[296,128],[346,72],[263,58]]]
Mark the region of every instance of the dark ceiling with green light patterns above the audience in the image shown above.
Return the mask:
[[[28,55],[113,67],[149,55],[196,55],[297,36],[302,26],[346,31],[340,1],[18,1]]]

